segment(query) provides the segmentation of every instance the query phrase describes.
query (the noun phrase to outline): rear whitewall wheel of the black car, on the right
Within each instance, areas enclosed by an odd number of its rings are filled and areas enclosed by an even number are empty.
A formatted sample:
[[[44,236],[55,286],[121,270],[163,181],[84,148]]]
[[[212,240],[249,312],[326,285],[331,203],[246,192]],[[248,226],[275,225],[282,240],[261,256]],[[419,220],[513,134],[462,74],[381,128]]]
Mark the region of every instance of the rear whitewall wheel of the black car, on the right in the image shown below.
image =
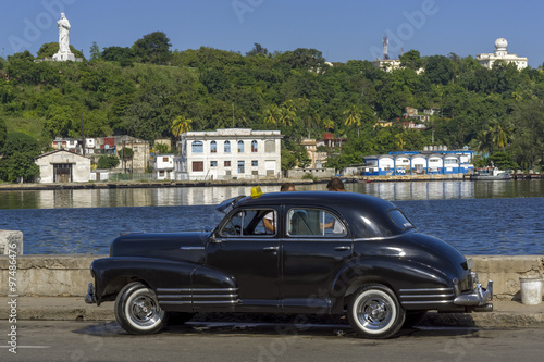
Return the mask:
[[[405,311],[395,294],[384,285],[367,284],[350,298],[347,317],[363,338],[388,338],[405,321]]]

